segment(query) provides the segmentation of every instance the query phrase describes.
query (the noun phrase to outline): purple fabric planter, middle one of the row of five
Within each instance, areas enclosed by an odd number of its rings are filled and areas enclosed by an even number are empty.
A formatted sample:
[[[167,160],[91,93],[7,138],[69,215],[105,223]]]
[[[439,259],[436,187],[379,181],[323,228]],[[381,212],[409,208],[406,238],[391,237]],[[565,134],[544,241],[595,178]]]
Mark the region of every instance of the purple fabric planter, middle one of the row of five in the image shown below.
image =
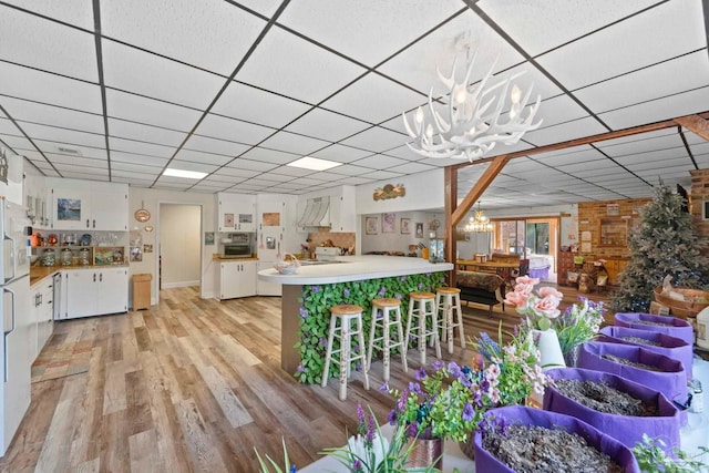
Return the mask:
[[[644,370],[643,368],[618,363],[603,358],[604,354],[614,354],[635,363],[649,364],[662,371]],[[634,345],[602,341],[586,342],[580,346],[578,368],[618,374],[659,391],[669,400],[679,402],[687,400],[687,371],[685,371],[682,363]]]

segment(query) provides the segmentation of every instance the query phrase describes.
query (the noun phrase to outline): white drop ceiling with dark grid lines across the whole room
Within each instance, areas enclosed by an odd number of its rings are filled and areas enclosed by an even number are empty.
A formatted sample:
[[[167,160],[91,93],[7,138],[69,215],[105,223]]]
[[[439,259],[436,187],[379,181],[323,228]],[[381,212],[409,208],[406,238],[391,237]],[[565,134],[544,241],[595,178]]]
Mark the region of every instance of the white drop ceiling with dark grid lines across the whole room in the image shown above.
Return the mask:
[[[475,81],[525,70],[543,99],[542,126],[491,155],[709,111],[706,14],[702,0],[0,0],[0,141],[48,176],[137,187],[397,181],[456,163],[411,152],[401,120],[445,92],[435,68],[456,53],[477,52]],[[306,155],[342,165],[286,167]],[[460,169],[460,197],[485,167]],[[649,196],[703,167],[709,143],[676,127],[514,158],[481,200]]]

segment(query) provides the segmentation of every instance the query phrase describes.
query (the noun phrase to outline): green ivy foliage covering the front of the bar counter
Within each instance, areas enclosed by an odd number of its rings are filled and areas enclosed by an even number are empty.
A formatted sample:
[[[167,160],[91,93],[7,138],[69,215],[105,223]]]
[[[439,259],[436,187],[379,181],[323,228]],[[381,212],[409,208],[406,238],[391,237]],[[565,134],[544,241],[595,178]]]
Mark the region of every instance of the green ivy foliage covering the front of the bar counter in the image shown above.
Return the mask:
[[[325,368],[328,332],[330,327],[330,308],[338,304],[360,306],[364,339],[369,338],[371,326],[372,299],[391,297],[401,299],[401,313],[409,310],[409,292],[433,291],[444,285],[444,273],[397,276],[389,278],[368,279],[360,281],[337,282],[319,286],[304,286],[300,297],[300,341],[296,348],[300,352],[300,366],[294,374],[301,383],[319,383]],[[380,336],[381,333],[378,333]],[[335,341],[335,349],[339,349]],[[366,350],[366,347],[354,346],[352,352]],[[361,369],[352,364],[352,369]],[[338,367],[330,367],[330,377],[338,377]]]

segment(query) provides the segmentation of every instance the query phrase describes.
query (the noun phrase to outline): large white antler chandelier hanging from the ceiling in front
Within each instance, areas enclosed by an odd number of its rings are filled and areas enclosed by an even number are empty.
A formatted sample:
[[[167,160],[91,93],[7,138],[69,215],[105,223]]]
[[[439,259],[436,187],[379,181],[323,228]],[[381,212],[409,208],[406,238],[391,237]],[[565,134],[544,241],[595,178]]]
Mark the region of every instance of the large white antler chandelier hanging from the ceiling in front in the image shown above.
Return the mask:
[[[476,55],[477,53],[473,55],[465,79],[460,83],[455,82],[458,58],[453,61],[450,78],[445,78],[439,68],[435,69],[441,82],[450,90],[446,95],[436,99],[436,102],[448,103],[445,113],[439,113],[433,107],[433,88],[429,92],[429,117],[424,116],[423,110],[419,106],[412,127],[405,113],[402,113],[407,132],[413,138],[407,146],[414,153],[427,157],[467,158],[472,162],[490,152],[497,143],[517,143],[527,131],[536,130],[542,124],[542,120],[532,123],[542,100],[540,95],[526,117],[522,117],[532,86],[523,99],[522,90],[512,84],[512,81],[524,74],[524,71],[490,85],[495,68],[493,63],[477,85],[469,86]],[[507,93],[511,105],[508,111],[503,113]],[[495,102],[494,109],[489,111]]]

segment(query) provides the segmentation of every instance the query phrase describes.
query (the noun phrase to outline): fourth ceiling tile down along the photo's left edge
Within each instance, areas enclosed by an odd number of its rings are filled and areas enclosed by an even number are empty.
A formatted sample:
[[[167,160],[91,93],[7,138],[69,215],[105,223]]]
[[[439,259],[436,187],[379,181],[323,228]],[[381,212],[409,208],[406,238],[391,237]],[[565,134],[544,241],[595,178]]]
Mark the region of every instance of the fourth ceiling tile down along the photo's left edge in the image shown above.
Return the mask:
[[[103,117],[95,113],[76,112],[12,97],[0,97],[0,104],[14,120],[42,125],[62,126],[92,133],[103,133]]]

